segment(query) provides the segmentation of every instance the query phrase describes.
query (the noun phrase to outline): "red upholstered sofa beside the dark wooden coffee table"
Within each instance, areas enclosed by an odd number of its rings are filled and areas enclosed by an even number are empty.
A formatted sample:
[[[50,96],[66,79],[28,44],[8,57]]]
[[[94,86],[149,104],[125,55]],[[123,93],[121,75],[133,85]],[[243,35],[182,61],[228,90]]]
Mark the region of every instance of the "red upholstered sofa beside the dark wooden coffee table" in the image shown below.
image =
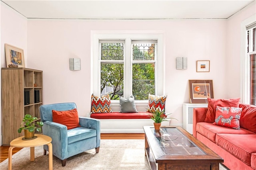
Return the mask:
[[[239,107],[240,130],[204,122],[208,108],[194,108],[193,136],[221,156],[230,170],[256,170],[256,106]]]

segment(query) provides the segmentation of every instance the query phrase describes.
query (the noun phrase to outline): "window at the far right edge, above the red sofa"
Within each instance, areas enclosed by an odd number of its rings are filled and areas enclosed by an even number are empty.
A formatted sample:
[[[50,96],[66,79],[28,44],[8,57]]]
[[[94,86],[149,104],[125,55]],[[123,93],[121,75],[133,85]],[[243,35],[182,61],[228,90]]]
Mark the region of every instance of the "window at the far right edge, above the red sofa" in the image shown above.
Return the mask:
[[[247,29],[247,41],[246,52],[248,61],[248,98],[250,104],[256,105],[256,23],[248,25]]]

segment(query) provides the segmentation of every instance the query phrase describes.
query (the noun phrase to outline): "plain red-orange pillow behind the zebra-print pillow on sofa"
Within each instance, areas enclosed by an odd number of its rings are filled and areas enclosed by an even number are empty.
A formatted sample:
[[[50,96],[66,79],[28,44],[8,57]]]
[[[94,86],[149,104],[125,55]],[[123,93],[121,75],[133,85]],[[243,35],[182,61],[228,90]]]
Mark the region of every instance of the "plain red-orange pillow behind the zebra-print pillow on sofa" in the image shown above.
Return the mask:
[[[233,99],[211,99],[208,100],[208,111],[206,112],[205,122],[214,123],[216,107],[239,107],[240,98]]]

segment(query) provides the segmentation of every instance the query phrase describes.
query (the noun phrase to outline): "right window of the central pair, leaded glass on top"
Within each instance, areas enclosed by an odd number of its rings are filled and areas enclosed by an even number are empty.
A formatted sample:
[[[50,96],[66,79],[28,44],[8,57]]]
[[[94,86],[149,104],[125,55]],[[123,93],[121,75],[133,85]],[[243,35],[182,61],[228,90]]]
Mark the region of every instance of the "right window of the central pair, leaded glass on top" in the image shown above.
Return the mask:
[[[132,40],[132,94],[135,100],[147,100],[155,94],[157,40]]]

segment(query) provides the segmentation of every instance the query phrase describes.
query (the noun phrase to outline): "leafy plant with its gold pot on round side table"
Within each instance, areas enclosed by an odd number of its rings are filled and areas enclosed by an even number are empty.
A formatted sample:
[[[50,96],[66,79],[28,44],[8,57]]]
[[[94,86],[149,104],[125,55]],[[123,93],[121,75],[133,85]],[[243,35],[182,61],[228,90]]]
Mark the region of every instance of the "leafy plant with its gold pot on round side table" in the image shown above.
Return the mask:
[[[20,128],[18,129],[18,133],[21,133],[21,131],[24,129],[25,139],[34,138],[35,129],[36,131],[41,132],[41,127],[44,125],[42,121],[39,122],[36,120],[38,120],[37,117],[26,114],[22,120]],[[22,127],[23,124],[24,126]],[[36,125],[39,125],[40,127],[36,127]]]

